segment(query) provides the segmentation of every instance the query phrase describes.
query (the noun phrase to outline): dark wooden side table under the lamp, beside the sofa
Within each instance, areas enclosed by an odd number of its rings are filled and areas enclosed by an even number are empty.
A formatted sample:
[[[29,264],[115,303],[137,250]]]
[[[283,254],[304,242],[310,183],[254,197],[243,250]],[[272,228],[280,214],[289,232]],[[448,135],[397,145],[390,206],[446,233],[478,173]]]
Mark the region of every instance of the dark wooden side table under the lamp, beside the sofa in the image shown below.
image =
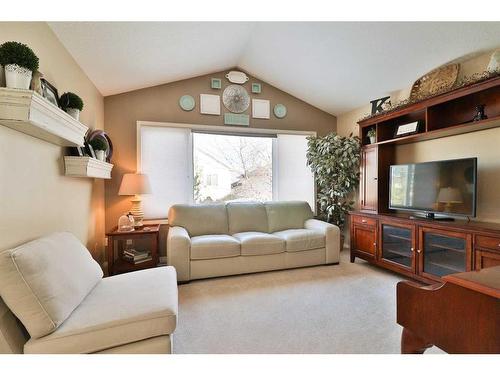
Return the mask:
[[[133,232],[119,232],[118,228],[109,233],[108,237],[108,273],[110,276],[119,273],[143,270],[146,268],[156,267],[159,263],[159,235],[160,225],[144,225],[140,229],[135,229]],[[151,253],[151,260],[133,264],[123,259],[123,251],[127,247],[127,240],[149,240],[150,248],[144,249]],[[138,249],[136,249],[138,250]]]

